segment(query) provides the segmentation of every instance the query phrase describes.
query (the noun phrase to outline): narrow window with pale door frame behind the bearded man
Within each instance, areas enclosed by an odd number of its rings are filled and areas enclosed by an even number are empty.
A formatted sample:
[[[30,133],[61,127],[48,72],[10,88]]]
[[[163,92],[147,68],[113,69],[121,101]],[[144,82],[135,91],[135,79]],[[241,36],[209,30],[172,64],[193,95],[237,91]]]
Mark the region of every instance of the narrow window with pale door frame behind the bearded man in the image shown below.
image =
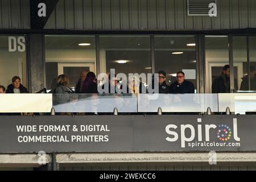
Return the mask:
[[[205,93],[225,91],[225,88],[212,90],[214,79],[221,76],[225,65],[229,65],[228,36],[205,36]]]

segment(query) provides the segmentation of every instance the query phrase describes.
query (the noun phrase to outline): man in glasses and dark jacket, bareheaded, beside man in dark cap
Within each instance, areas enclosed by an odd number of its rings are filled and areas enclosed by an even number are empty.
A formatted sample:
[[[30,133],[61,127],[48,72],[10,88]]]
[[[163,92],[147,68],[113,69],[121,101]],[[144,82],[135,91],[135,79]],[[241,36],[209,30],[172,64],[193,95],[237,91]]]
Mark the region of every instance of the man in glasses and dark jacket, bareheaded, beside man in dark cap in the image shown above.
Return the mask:
[[[195,86],[192,82],[185,80],[185,73],[176,73],[176,81],[170,86],[170,93],[195,93]]]

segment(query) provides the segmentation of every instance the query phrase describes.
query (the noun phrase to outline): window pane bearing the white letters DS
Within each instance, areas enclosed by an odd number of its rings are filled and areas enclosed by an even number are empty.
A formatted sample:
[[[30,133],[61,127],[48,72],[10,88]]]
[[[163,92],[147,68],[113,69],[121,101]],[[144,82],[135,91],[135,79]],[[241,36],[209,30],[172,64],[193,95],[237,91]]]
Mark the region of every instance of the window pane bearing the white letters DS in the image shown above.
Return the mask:
[[[13,76],[19,76],[27,87],[26,37],[0,36],[0,85],[7,88]]]

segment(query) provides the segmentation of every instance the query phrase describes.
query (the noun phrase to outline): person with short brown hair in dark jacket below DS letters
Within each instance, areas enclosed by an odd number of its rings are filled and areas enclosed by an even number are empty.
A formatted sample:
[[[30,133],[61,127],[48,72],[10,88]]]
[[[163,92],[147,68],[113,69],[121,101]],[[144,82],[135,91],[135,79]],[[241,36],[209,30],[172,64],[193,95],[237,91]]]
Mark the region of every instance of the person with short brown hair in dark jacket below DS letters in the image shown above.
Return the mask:
[[[14,76],[11,81],[13,83],[7,86],[6,93],[28,93],[27,88],[21,84],[20,77]]]

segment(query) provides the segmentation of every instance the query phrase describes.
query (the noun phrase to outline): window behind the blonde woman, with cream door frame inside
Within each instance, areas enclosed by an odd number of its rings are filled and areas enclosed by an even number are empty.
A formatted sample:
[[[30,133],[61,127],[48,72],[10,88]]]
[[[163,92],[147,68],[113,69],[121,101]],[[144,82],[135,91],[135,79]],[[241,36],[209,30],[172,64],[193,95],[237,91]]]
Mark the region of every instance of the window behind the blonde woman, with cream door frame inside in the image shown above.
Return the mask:
[[[54,89],[58,75],[69,77],[75,88],[82,71],[96,73],[95,36],[46,35],[46,88]]]

